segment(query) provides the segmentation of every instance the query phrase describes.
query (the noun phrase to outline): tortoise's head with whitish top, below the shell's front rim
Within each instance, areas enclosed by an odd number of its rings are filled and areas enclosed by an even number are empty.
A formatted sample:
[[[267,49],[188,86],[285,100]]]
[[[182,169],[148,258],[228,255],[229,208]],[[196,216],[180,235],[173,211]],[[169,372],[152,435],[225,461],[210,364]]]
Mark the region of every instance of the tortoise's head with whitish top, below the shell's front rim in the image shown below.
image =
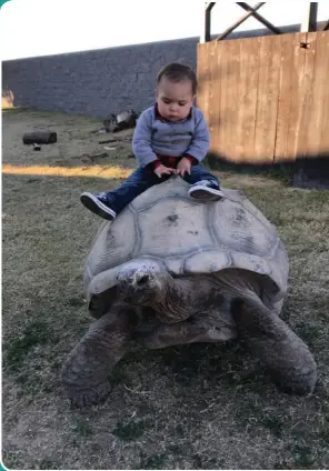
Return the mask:
[[[169,273],[153,262],[127,263],[118,273],[118,294],[122,301],[137,305],[161,302],[168,277]]]

